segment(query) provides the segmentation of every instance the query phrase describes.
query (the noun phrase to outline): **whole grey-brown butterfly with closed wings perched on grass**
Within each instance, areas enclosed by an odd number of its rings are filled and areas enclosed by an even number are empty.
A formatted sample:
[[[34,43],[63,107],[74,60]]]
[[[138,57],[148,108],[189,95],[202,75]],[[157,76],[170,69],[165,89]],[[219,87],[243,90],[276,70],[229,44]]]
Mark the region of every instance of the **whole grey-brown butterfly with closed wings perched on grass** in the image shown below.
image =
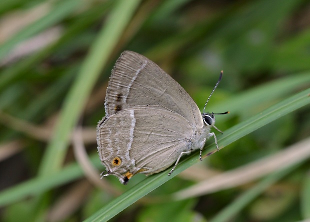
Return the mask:
[[[201,114],[174,79],[136,52],[124,51],[117,59],[104,106],[97,125],[97,149],[106,168],[102,177],[114,175],[126,184],[137,173],[151,175],[174,164],[170,175],[184,154],[200,149],[201,160],[211,136],[218,150],[210,132],[214,114],[204,109]]]

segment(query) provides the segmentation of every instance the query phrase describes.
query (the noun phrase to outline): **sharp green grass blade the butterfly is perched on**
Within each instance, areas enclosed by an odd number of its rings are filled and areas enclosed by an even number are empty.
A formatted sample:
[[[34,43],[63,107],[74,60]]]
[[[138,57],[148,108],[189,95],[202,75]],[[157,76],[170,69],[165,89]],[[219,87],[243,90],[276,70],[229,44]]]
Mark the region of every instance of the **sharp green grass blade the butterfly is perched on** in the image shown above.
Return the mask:
[[[263,112],[253,116],[252,118],[230,128],[229,130],[225,131],[225,134],[218,138],[218,144],[220,148],[227,146],[228,144],[234,142],[237,139],[253,132],[254,130],[272,122],[273,120],[290,113],[302,106],[305,106],[310,103],[310,89],[306,89],[294,96],[285,99],[278,104],[271,106],[270,108],[264,110]],[[213,150],[210,152],[209,150]],[[203,154],[206,153],[211,154],[215,152],[215,146],[209,145],[204,150]],[[167,169],[161,173],[152,175],[147,177],[145,180],[134,186],[133,188],[129,189],[127,192],[122,194],[121,196],[117,197],[101,210],[97,211],[94,215],[86,220],[86,222],[94,222],[94,221],[108,221],[119,212],[154,190],[155,188],[159,187],[163,183],[167,182],[168,180],[175,177],[177,174],[182,172],[183,170],[189,168],[193,164],[197,163],[199,160],[197,155],[191,155],[181,161],[175,171],[171,176],[167,176],[170,169]]]

